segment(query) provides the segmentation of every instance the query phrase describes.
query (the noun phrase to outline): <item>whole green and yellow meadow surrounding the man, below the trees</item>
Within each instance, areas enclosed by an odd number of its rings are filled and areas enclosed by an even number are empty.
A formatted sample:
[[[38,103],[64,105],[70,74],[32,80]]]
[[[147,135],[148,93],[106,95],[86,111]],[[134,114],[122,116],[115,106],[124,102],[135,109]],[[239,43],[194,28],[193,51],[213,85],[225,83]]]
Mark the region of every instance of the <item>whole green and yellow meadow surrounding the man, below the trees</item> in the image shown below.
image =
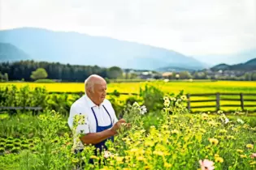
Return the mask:
[[[84,91],[83,83],[0,83],[0,90],[2,106],[44,107],[37,115],[25,111],[0,114],[0,169],[76,169],[81,162],[86,164],[83,169],[101,170],[256,168],[255,114],[189,113],[184,96],[256,93],[255,82],[110,83],[108,92],[139,96],[108,96],[118,116],[132,127],[119,131],[105,155],[92,155],[91,146],[79,155],[73,153],[67,114],[80,96],[48,94]],[[209,99],[196,99],[202,98]],[[89,159],[96,164],[87,164]],[[103,160],[104,164],[98,164]]]

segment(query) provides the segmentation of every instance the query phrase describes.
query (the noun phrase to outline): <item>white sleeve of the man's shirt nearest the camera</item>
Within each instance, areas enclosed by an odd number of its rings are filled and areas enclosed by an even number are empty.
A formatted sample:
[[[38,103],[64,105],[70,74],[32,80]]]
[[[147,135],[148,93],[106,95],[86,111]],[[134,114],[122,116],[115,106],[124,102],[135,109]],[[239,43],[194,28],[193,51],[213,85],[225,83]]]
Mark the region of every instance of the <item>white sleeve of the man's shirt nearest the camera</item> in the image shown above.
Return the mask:
[[[75,118],[77,117],[77,118]],[[74,105],[70,108],[69,117],[67,123],[71,130],[74,127],[74,121],[78,121],[78,125],[76,126],[76,134],[89,134],[89,120],[88,116],[85,113],[80,113],[79,109],[77,109]]]

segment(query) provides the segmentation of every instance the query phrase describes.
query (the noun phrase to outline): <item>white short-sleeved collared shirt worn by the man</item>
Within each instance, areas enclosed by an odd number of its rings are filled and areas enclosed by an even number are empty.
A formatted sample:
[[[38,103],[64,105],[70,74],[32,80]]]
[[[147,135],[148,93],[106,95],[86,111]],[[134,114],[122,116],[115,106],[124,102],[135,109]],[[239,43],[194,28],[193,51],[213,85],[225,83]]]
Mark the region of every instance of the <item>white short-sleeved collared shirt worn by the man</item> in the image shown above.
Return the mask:
[[[110,114],[111,118],[109,115],[106,113],[107,112]],[[68,125],[72,129],[73,128],[73,120],[76,115],[85,115],[85,124],[83,125],[78,125],[76,128],[76,134],[81,133],[81,130],[83,134],[88,134],[88,133],[96,133],[96,120],[93,114],[93,111],[95,113],[95,116],[98,119],[98,125],[99,126],[106,126],[106,125],[115,125],[115,123],[118,121],[116,115],[115,115],[115,110],[112,107],[112,104],[109,100],[104,100],[102,104],[99,106],[94,104],[92,100],[89,99],[88,96],[82,96],[80,99],[76,100],[75,103],[72,104],[69,117],[68,117]],[[76,134],[75,137],[76,137]],[[74,141],[75,142],[75,141]],[[84,146],[80,142],[78,146],[76,146],[76,149],[82,149]]]

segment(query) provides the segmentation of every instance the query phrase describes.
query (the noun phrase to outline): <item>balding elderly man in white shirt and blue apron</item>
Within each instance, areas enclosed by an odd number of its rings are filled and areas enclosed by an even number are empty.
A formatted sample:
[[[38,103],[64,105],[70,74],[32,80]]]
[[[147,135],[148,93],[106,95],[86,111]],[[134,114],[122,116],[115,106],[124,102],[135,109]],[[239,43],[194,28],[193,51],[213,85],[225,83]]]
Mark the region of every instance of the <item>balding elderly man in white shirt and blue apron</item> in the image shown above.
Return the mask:
[[[85,80],[85,96],[76,100],[70,109],[68,125],[73,128],[73,121],[76,115],[85,115],[85,124],[78,125],[76,133],[82,131],[83,137],[76,145],[75,151],[82,151],[84,144],[92,144],[102,151],[106,149],[107,139],[114,140],[114,135],[124,119],[118,120],[111,102],[106,97],[106,81],[102,77],[93,74]]]

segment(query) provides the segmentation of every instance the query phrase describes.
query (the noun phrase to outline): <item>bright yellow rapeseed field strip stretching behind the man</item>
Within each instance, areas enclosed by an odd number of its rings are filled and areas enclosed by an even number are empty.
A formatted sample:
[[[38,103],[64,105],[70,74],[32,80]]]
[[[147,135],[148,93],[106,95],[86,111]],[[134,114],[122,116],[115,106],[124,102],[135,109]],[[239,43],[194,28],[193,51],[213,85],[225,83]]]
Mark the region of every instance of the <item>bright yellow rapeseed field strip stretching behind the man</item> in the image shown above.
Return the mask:
[[[0,87],[16,85],[17,87],[22,87],[29,85],[29,87],[46,87],[47,91],[85,91],[84,83],[0,83]],[[117,90],[119,92],[128,93],[139,93],[140,87],[145,87],[146,82],[143,83],[110,83],[108,84],[107,91],[111,92]],[[160,90],[168,93],[178,93],[184,90],[184,94],[190,93],[216,93],[216,92],[234,92],[234,93],[255,93],[256,94],[256,82],[245,82],[245,81],[171,81],[168,83],[164,82],[151,82],[148,84],[153,84]],[[120,96],[120,100],[125,100],[128,96]],[[240,99],[240,96],[223,96],[225,98],[235,98]],[[245,99],[256,99],[256,96],[245,96]],[[207,100],[215,99],[215,96],[210,97],[192,97],[191,100]],[[206,103],[193,103],[191,106],[197,105],[215,105],[215,102]],[[221,101],[221,104],[241,104],[240,101]],[[245,102],[245,104],[255,104],[255,102]],[[255,109],[249,108],[249,109]],[[205,108],[202,108],[202,110]],[[214,110],[215,108],[209,108],[209,110]],[[229,108],[227,108],[229,109]],[[232,108],[234,109],[234,108]],[[201,110],[201,109],[197,109]]]

